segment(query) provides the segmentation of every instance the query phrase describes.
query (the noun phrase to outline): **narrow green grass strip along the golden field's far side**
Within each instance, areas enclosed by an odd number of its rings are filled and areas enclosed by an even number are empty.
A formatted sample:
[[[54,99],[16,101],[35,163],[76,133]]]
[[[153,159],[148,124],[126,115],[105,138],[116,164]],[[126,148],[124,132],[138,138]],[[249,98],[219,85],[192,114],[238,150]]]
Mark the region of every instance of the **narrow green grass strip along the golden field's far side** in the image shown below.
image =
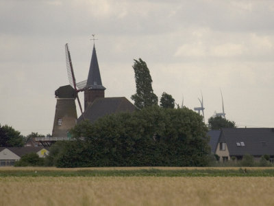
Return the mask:
[[[249,170],[0,170],[5,176],[274,176],[274,169]]]

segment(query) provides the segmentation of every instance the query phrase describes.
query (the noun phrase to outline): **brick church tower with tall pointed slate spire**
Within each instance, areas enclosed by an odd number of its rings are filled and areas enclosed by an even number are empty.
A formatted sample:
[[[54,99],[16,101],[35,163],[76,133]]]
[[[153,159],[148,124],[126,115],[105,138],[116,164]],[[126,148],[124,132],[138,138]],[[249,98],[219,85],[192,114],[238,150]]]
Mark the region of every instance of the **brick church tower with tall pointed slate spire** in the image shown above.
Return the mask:
[[[105,97],[105,87],[101,81],[99,65],[97,61],[95,45],[93,45],[92,56],[90,60],[90,70],[88,72],[88,81],[84,90],[84,108],[88,108],[96,98]]]

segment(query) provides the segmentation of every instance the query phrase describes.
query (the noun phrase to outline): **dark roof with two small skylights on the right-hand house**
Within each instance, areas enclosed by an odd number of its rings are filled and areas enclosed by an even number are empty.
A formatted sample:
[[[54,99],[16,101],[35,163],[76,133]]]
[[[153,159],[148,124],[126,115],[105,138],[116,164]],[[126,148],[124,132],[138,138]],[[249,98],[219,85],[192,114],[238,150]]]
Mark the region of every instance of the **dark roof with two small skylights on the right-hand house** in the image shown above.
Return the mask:
[[[219,142],[227,143],[230,156],[274,155],[274,128],[222,128]]]

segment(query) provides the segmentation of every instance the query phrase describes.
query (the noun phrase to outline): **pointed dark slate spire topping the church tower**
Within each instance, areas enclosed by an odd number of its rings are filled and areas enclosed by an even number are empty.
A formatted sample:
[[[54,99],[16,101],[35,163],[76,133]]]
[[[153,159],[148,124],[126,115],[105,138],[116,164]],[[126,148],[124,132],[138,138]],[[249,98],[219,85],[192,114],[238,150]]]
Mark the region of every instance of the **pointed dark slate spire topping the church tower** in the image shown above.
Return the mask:
[[[105,89],[101,81],[95,46],[93,46],[92,56],[90,60],[90,70],[88,71],[88,82],[86,83],[86,87],[88,87],[88,89]]]

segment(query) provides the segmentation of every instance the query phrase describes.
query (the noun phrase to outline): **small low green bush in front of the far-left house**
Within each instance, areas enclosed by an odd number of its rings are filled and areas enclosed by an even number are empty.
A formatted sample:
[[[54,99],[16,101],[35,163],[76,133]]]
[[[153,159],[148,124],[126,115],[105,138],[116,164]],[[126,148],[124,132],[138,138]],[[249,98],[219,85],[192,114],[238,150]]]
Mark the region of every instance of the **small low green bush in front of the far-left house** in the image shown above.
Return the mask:
[[[26,167],[26,166],[43,166],[44,159],[39,157],[35,152],[23,155],[19,161],[16,161],[14,166]]]

